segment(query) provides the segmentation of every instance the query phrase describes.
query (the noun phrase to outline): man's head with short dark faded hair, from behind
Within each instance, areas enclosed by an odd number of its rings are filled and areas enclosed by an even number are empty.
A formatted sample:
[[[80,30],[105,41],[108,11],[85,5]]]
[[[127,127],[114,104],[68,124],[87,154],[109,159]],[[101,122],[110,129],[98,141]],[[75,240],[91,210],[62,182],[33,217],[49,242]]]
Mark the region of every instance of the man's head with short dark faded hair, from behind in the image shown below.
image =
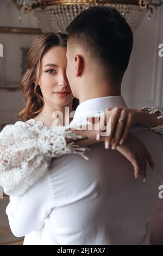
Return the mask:
[[[79,97],[80,83],[91,74],[95,81],[121,85],[133,48],[133,32],[116,9],[91,7],[71,22],[67,33],[67,77],[74,96]]]

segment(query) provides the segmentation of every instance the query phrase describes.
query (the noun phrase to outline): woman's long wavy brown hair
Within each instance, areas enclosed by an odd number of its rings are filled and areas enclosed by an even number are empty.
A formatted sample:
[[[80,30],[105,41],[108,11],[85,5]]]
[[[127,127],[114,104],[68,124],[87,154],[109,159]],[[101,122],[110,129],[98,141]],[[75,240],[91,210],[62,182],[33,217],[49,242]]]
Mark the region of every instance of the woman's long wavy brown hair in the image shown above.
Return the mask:
[[[26,107],[18,113],[20,121],[27,121],[35,118],[44,106],[44,100],[38,85],[40,77],[40,66],[43,55],[53,46],[67,46],[67,34],[45,33],[40,35],[32,44],[27,56],[27,71],[21,77],[20,86],[22,89]],[[73,109],[76,109],[78,100],[73,100]]]

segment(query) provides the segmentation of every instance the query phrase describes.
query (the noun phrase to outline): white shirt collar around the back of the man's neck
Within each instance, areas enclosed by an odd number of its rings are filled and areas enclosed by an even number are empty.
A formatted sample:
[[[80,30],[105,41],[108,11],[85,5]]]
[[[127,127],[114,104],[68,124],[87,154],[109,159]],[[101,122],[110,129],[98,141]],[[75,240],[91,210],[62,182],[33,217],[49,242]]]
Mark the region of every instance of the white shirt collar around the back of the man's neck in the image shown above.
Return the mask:
[[[107,107],[127,107],[127,105],[122,96],[107,96],[86,100],[77,107],[73,120],[76,121],[84,115],[103,112]]]

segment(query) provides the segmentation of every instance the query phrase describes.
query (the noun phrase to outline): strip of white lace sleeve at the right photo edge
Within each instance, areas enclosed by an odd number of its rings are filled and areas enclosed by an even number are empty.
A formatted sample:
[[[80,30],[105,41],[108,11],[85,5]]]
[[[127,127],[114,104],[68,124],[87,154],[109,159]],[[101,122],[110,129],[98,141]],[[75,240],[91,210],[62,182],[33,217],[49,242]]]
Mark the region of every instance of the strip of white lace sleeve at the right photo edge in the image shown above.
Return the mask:
[[[148,111],[149,114],[159,114],[158,119],[163,119],[163,108],[148,108],[148,107],[144,107],[144,108],[140,108],[140,110],[142,111]],[[152,127],[151,128],[153,131],[158,132],[162,138],[162,142],[163,142],[163,125],[159,125],[157,127]]]

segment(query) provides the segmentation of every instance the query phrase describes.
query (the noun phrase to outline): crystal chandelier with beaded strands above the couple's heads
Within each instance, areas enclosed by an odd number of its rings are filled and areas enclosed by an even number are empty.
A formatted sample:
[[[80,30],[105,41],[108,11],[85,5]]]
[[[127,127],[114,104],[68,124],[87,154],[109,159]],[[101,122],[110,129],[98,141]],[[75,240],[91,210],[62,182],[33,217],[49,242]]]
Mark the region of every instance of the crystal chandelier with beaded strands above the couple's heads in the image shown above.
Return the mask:
[[[65,32],[70,22],[85,9],[105,5],[115,7],[135,31],[143,16],[156,13],[163,0],[12,0],[24,13],[33,11],[42,32]]]

